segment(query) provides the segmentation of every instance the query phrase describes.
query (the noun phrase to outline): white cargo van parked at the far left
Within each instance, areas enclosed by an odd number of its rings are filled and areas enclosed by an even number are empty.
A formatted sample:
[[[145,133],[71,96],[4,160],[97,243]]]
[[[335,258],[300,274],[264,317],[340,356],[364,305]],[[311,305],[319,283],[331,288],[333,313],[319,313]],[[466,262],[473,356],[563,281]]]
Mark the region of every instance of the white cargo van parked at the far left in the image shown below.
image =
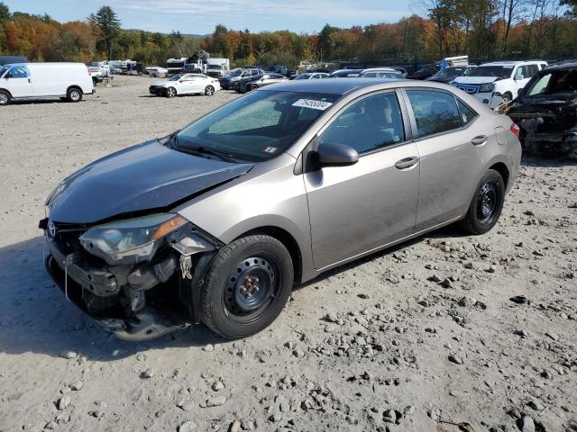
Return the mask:
[[[16,99],[60,97],[80,102],[94,85],[83,63],[18,63],[0,67],[0,105]]]

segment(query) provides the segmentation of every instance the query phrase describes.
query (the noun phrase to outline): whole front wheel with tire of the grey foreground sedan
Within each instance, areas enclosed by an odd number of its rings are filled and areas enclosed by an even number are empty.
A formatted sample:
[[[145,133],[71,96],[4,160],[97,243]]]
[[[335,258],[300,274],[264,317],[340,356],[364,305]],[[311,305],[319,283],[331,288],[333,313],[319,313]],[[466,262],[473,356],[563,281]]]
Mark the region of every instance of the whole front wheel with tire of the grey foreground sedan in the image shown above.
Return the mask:
[[[224,338],[252,336],[277,319],[289,299],[293,278],[289,251],[276,238],[252,235],[234,240],[208,269],[200,319]],[[251,293],[246,293],[247,286]]]

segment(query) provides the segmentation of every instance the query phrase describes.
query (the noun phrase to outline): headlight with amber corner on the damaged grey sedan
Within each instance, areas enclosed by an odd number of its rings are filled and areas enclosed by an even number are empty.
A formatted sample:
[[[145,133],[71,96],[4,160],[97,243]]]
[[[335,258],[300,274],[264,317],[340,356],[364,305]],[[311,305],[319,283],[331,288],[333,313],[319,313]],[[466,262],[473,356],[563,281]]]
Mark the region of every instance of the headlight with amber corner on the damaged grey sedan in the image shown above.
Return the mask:
[[[178,214],[152,214],[97,225],[79,239],[82,247],[108,264],[133,264],[150,260],[162,238],[187,223]]]

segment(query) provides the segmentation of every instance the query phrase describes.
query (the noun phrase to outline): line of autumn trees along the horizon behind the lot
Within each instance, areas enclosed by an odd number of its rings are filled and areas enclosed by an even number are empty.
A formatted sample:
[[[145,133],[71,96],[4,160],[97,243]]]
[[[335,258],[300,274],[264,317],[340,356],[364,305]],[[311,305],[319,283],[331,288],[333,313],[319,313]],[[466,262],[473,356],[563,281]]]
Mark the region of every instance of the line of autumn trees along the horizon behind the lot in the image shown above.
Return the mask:
[[[338,28],[314,34],[228,29],[205,38],[124,30],[103,6],[84,21],[59,23],[50,15],[11,13],[0,2],[0,54],[32,61],[131,58],[164,65],[205,49],[236,65],[286,64],[300,60],[414,64],[468,54],[491,58],[577,58],[577,0],[418,0],[419,14],[397,23]]]

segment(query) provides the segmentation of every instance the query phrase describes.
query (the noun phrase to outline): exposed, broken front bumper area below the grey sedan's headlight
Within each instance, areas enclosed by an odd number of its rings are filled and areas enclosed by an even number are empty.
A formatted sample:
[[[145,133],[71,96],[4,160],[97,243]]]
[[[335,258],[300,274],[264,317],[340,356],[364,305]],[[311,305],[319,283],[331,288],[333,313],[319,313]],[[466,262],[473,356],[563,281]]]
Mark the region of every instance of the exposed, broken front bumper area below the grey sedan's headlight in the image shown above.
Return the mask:
[[[76,237],[76,235],[74,235]],[[44,265],[80,311],[124,340],[158,338],[199,322],[204,275],[219,247],[196,228],[172,238],[149,262],[109,266],[45,231]]]

